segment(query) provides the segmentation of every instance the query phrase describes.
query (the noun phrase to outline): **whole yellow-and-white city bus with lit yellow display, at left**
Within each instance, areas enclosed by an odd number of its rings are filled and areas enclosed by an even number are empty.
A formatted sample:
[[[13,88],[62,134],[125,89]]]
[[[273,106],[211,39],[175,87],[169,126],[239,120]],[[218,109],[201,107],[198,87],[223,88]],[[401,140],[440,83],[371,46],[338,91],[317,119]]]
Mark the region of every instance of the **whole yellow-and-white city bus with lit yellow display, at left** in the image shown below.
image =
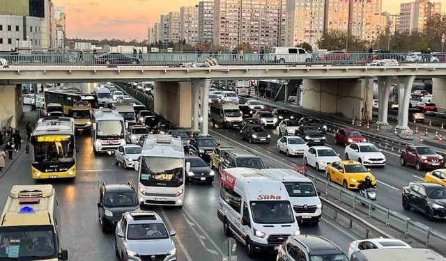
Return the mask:
[[[72,118],[40,118],[31,134],[31,177],[76,177],[76,151]]]

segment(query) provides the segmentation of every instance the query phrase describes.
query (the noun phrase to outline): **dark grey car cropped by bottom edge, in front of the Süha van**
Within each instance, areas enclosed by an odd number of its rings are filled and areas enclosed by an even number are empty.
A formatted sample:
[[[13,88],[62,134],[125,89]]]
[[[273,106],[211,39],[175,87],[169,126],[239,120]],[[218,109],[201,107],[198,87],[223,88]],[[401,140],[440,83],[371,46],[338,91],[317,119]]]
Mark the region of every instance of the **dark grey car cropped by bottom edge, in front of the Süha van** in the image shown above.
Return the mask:
[[[279,246],[277,261],[336,260],[348,261],[341,248],[324,237],[316,235],[291,236]]]

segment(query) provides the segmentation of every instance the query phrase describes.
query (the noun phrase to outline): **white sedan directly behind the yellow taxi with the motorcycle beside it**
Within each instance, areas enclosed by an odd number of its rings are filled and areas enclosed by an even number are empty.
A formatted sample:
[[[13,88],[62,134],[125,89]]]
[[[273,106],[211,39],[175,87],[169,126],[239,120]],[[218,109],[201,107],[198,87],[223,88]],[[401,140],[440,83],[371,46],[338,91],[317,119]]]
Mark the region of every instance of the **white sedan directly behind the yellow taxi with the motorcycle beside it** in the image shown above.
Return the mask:
[[[323,171],[328,164],[341,160],[339,154],[328,146],[314,146],[304,152],[305,166],[314,166],[316,171]]]

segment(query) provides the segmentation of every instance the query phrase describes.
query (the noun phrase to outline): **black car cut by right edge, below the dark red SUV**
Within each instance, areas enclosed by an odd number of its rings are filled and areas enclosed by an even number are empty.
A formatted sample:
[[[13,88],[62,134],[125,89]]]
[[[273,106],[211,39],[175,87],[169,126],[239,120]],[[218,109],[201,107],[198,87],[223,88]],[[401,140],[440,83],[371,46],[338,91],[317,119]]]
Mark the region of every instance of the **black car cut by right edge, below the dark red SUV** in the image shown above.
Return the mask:
[[[446,219],[446,187],[436,183],[410,182],[403,187],[403,209],[424,213],[428,221]]]

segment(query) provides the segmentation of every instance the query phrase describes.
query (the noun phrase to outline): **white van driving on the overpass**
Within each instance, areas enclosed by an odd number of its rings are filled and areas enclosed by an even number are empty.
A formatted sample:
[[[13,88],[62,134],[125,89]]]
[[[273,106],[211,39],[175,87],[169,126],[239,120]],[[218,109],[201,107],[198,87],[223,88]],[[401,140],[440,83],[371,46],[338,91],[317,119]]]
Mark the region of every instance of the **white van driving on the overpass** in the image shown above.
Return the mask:
[[[312,54],[300,47],[273,47],[268,56],[275,63],[311,63]]]

